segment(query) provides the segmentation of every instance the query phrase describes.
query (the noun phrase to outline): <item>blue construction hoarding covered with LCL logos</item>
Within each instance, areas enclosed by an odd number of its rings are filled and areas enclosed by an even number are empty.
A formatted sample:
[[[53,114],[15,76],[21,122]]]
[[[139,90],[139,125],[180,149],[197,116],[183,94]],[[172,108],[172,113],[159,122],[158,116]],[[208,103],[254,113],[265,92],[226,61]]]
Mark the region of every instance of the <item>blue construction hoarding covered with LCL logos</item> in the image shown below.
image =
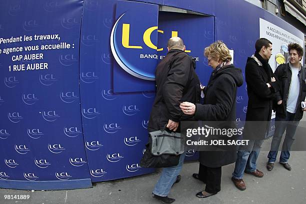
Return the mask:
[[[204,47],[223,40],[244,70],[260,36],[259,18],[303,39],[296,28],[244,0],[0,5],[0,187],[6,188],[81,188],[153,172],[139,160],[147,142],[154,69],[171,36],[182,37],[187,53],[196,57],[202,84],[211,73]],[[245,84],[236,102],[236,121],[242,124]],[[197,153],[187,149],[186,155],[196,159]]]

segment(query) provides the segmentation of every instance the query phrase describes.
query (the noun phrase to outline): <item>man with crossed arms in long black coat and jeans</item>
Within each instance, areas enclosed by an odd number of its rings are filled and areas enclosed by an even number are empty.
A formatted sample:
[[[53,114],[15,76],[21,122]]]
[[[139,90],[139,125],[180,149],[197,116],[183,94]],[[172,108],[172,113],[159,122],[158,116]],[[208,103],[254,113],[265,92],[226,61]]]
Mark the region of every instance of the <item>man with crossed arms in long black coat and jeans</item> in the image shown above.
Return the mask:
[[[240,146],[232,173],[232,181],[239,190],[246,188],[242,179],[243,171],[256,177],[263,176],[263,173],[256,169],[256,160],[271,119],[272,99],[278,90],[273,71],[268,64],[272,43],[266,38],[259,38],[255,49],[255,53],[247,58],[245,65],[248,103],[243,139],[249,139],[249,142],[248,145]]]

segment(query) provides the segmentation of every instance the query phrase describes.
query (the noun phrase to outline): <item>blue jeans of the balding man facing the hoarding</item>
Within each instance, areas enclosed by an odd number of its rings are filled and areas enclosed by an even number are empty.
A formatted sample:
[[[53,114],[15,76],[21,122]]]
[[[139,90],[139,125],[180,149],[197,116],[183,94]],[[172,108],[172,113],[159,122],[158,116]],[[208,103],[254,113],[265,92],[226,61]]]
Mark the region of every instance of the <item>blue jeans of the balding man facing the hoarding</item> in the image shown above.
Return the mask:
[[[159,196],[167,196],[170,192],[172,184],[175,182],[184,162],[185,152],[180,154],[179,162],[176,166],[170,166],[162,169],[160,177],[155,184],[153,193]]]

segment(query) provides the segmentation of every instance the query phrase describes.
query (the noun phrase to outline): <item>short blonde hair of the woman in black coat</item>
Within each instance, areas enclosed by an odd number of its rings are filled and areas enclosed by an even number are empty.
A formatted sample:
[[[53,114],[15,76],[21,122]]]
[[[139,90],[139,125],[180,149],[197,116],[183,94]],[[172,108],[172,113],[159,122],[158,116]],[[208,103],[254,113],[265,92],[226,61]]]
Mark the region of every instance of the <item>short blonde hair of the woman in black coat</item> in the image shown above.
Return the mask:
[[[216,61],[230,61],[231,55],[227,46],[220,40],[213,42],[207,46],[204,50],[204,56],[211,56],[212,59]]]

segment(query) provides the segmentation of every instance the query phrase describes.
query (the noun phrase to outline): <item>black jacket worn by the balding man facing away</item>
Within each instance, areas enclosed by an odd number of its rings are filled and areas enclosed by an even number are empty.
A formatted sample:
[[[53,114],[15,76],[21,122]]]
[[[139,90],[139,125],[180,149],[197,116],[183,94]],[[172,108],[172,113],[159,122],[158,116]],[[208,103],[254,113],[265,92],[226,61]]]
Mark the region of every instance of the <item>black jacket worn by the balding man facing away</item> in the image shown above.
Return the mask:
[[[182,113],[183,101],[196,103],[200,96],[200,82],[192,57],[179,49],[171,49],[156,67],[156,96],[152,106],[148,130],[159,130],[169,119],[193,120]],[[179,131],[179,129],[178,129]]]

